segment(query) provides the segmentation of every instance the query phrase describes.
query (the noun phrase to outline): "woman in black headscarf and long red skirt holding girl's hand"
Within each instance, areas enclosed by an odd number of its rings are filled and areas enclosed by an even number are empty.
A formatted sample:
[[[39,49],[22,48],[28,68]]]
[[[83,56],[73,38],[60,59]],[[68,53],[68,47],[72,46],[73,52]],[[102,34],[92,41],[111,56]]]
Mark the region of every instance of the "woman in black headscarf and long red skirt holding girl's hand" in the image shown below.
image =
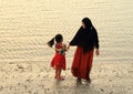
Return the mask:
[[[94,48],[96,49],[96,55],[99,55],[100,52],[98,32],[89,18],[82,20],[82,27],[70,42],[68,49],[72,45],[78,46],[71,67],[72,74],[78,77],[78,82],[84,79],[91,83],[90,71],[93,62]]]

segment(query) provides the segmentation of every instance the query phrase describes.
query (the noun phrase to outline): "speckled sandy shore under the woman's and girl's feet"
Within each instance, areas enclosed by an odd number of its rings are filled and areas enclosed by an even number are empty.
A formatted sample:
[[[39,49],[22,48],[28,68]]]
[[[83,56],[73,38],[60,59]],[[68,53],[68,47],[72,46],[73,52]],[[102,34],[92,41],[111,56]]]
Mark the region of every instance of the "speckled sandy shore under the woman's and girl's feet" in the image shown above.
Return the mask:
[[[92,83],[78,85],[70,69],[65,81],[53,79],[45,62],[0,63],[0,94],[132,94],[133,63],[94,63]]]

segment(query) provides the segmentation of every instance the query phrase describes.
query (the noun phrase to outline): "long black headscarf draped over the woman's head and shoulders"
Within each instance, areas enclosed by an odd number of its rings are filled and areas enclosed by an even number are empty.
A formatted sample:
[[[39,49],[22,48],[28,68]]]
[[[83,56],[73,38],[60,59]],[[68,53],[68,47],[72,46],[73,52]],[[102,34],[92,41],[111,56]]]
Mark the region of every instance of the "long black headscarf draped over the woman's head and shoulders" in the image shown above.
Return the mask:
[[[95,28],[89,18],[84,18],[82,22],[85,24],[85,29],[82,27],[78,30],[70,45],[78,45],[83,48],[83,52],[88,52],[94,46],[99,49],[99,38]]]

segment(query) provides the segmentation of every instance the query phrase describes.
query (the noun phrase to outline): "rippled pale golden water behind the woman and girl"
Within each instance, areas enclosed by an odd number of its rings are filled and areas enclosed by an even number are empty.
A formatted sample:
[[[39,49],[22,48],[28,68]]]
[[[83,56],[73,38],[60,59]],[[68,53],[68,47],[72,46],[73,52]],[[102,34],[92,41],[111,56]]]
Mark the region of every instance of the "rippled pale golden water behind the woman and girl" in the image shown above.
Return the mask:
[[[133,0],[0,0],[0,62],[50,62],[54,51],[45,43],[57,33],[69,43],[84,17],[100,36],[95,62],[133,62],[132,9]]]

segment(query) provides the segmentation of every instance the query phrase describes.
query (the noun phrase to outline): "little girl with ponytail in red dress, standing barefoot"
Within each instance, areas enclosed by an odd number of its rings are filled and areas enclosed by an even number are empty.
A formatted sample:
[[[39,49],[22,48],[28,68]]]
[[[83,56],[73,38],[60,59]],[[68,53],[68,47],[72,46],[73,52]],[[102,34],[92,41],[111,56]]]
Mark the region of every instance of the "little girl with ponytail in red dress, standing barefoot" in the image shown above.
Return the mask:
[[[63,36],[61,34],[57,34],[51,41],[48,42],[48,45],[52,48],[55,41],[55,55],[51,62],[51,66],[55,69],[55,79],[57,80],[64,80],[61,76],[61,71],[65,70],[65,51],[66,45],[63,44]]]

